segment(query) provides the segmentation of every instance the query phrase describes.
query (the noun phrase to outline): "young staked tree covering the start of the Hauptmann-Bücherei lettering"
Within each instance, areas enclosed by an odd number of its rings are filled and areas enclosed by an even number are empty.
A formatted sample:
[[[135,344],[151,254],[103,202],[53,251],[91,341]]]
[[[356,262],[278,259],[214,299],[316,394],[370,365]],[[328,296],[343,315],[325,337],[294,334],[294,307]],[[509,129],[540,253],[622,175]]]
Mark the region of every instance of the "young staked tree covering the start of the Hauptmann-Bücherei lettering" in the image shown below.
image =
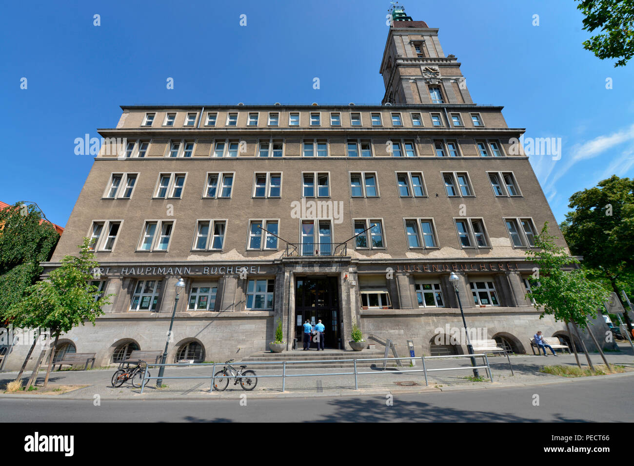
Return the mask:
[[[90,284],[90,280],[94,279],[91,272],[98,270],[99,264],[89,251],[89,242],[89,238],[84,238],[83,244],[77,246],[80,249],[79,256],[64,256],[60,267],[49,274],[48,280],[30,286],[27,296],[8,311],[9,317],[18,327],[48,329],[50,336],[55,337],[44,387],[48,384],[60,335],[85,322],[94,325],[96,317],[103,314],[101,306],[110,304],[108,298],[112,295],[99,297],[97,287]],[[25,367],[29,356],[22,367]]]

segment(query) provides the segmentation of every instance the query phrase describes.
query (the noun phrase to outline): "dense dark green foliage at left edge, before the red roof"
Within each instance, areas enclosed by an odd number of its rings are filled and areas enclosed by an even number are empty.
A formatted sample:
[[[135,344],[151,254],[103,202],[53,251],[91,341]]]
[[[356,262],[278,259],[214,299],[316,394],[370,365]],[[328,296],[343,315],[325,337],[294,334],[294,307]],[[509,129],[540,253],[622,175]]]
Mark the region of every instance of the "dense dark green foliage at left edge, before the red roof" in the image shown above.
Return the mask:
[[[51,258],[60,239],[55,227],[41,220],[36,206],[22,202],[0,210],[0,319],[36,282],[39,263]]]

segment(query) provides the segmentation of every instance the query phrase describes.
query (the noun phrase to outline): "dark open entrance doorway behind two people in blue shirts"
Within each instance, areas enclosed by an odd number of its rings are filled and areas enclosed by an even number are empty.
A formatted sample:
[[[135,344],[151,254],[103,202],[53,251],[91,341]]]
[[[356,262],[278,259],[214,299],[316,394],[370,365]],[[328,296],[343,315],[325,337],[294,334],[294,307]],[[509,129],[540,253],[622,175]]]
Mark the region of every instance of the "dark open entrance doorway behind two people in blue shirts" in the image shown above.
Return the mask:
[[[339,286],[337,277],[297,277],[295,280],[295,337],[298,346],[302,343],[304,320],[311,324],[321,323],[326,348],[341,348],[339,336]],[[301,322],[301,323],[300,323]],[[299,325],[297,325],[299,323]],[[315,348],[316,343],[311,343]]]

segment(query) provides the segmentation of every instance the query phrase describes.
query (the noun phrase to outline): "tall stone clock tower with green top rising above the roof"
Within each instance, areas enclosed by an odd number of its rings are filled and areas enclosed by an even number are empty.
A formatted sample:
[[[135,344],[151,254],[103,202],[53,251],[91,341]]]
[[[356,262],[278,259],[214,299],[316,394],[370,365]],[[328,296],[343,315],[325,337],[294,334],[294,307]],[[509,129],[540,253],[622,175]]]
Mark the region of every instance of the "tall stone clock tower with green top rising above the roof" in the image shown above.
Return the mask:
[[[473,104],[455,56],[445,56],[438,29],[413,21],[402,6],[392,20],[381,61],[382,104]]]

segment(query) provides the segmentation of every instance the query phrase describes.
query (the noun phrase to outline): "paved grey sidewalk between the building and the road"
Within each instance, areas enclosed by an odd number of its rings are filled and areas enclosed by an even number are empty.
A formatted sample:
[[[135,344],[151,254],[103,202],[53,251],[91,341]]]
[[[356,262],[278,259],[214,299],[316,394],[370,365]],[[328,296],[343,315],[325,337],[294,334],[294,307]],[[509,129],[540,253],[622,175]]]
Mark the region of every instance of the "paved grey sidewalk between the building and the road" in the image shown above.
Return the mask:
[[[634,356],[629,347],[621,346],[620,353],[606,353],[610,363],[623,365],[628,371],[634,371]],[[558,353],[559,354],[559,353]],[[590,358],[593,363],[602,364],[602,358],[598,353],[591,353]],[[2,398],[61,398],[65,400],[93,400],[95,395],[99,395],[105,400],[210,400],[239,398],[242,394],[247,394],[249,398],[289,398],[289,397],[319,397],[319,396],[358,396],[359,394],[386,394],[386,393],[418,393],[425,391],[453,391],[463,389],[491,389],[496,387],[519,387],[529,385],[551,384],[557,382],[573,382],[575,380],[600,380],[605,377],[628,377],[634,372],[624,374],[567,378],[557,375],[544,374],[540,371],[543,365],[575,365],[573,355],[559,355],[554,357],[520,355],[510,356],[515,375],[512,376],[505,356],[489,356],[493,383],[486,377],[486,371],[481,369],[480,375],[484,382],[472,382],[467,379],[472,376],[470,361],[468,358],[456,358],[446,360],[429,360],[426,362],[428,370],[429,386],[425,386],[423,372],[404,372],[406,370],[422,369],[420,358],[416,360],[414,367],[409,367],[409,359],[403,358],[403,367],[389,367],[382,370],[382,363],[378,368],[359,367],[359,372],[371,372],[372,374],[358,375],[359,389],[354,389],[354,375],[344,374],[353,372],[352,367],[320,367],[313,368],[292,368],[287,365],[287,378],[285,382],[285,392],[282,393],[281,377],[259,377],[256,389],[244,391],[239,385],[233,385],[230,380],[229,386],[223,392],[209,392],[211,379],[164,379],[166,388],[157,389],[156,379],[150,379],[143,393],[141,389],[133,388],[130,384],[114,388],[110,384],[115,367],[100,370],[64,370],[51,372],[49,384],[55,385],[87,385],[86,387],[75,389],[62,394],[37,394],[20,393],[4,394],[0,392]],[[586,359],[583,353],[579,355],[579,360],[586,366]],[[481,358],[478,358],[478,363]],[[212,365],[198,367],[166,367],[165,377],[170,376],[209,376],[212,374]],[[221,370],[222,364],[216,365],[216,371]],[[444,372],[429,372],[433,368],[443,367],[464,367],[463,370],[451,370]],[[250,363],[248,369],[256,370],[258,375],[280,374],[281,368],[271,368],[258,366]],[[292,377],[293,374],[320,374],[336,373],[337,375],[312,375],[309,377]],[[151,375],[158,375],[158,368],[150,368]],[[3,386],[15,379],[16,372],[0,373],[0,386]],[[37,383],[44,380],[45,372],[41,371],[37,377]],[[290,375],[290,377],[289,377]],[[24,374],[24,379],[28,379],[30,372]]]

